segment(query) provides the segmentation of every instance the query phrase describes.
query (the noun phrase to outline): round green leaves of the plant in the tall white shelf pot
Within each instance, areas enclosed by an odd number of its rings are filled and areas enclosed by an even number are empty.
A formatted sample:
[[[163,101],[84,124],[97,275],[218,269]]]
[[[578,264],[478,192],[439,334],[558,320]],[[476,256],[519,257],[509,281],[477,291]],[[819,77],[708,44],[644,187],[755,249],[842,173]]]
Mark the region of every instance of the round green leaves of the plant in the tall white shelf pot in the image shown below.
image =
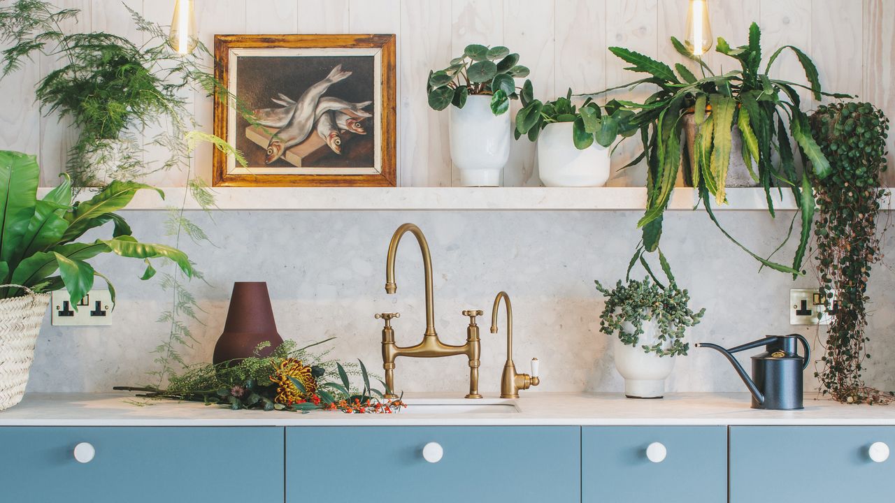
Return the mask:
[[[532,82],[516,88],[516,78],[528,76],[528,68],[518,64],[519,55],[507,47],[466,46],[463,55],[450,60],[444,70],[430,71],[426,84],[429,106],[444,110],[449,105],[463,108],[470,95],[490,95],[491,112],[507,113],[509,100],[519,98],[522,91],[532,96]]]

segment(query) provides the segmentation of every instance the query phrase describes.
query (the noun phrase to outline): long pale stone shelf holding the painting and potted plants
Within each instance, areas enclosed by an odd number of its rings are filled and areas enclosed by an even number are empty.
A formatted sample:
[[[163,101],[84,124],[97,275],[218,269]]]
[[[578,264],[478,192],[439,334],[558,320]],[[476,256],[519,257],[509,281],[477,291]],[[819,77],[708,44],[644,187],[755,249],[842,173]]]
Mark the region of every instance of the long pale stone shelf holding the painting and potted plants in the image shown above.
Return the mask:
[[[49,189],[40,189],[42,196]],[[157,210],[176,207],[184,202],[189,210],[200,209],[182,187],[169,187],[165,200],[156,192],[140,191],[128,210]],[[220,187],[215,192],[218,209],[225,211],[293,210],[293,211],[639,211],[646,203],[643,187],[284,187],[233,188]],[[773,192],[774,208],[796,209],[791,192],[782,198]],[[82,192],[79,199],[90,197]],[[698,198],[690,188],[675,189],[669,203],[672,210],[693,209]],[[762,189],[729,189],[729,204],[713,206],[716,210],[766,211]],[[888,202],[888,201],[887,201]]]

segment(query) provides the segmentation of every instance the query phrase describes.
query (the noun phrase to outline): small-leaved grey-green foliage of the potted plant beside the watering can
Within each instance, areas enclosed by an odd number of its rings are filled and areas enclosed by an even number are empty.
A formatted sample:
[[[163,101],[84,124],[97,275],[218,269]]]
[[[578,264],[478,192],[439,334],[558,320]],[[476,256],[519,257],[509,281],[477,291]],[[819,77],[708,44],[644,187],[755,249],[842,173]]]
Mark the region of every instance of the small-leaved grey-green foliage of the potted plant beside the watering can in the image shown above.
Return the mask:
[[[655,321],[659,333],[654,345],[641,345],[645,353],[658,356],[686,355],[690,348],[684,342],[686,328],[695,327],[703,318],[705,309],[694,312],[689,308],[690,294],[675,283],[662,288],[644,277],[643,281],[629,279],[626,283],[618,280],[615,288],[609,290],[595,281],[597,290],[606,297],[606,305],[600,315],[600,331],[608,336],[618,335],[626,345],[636,347],[644,334],[644,323]],[[630,323],[634,331],[625,329]]]

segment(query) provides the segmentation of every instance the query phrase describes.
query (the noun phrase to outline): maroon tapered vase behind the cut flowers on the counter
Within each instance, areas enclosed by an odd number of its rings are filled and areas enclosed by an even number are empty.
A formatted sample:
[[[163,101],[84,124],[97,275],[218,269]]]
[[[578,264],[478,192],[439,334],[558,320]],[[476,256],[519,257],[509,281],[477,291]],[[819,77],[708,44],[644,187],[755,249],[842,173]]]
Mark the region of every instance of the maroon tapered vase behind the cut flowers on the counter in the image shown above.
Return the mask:
[[[230,295],[230,309],[226,313],[224,333],[217,339],[215,364],[243,360],[255,355],[255,348],[262,342],[270,345],[259,352],[268,356],[283,344],[277,333],[274,310],[270,306],[268,284],[264,281],[237,281]]]

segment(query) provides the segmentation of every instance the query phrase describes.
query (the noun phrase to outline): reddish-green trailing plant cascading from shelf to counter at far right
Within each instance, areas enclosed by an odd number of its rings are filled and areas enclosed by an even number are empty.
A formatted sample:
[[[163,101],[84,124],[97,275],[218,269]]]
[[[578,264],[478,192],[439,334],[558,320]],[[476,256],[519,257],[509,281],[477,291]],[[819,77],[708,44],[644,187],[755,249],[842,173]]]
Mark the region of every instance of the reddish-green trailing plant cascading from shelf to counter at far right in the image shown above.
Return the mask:
[[[812,174],[819,205],[817,274],[826,308],[832,312],[827,330],[823,370],[814,375],[823,394],[849,404],[889,403],[895,397],[865,386],[861,372],[866,353],[867,280],[880,260],[876,217],[880,173],[886,169],[889,119],[869,103],[835,103],[818,107],[811,129],[831,175]],[[810,173],[810,172],[809,172]]]

